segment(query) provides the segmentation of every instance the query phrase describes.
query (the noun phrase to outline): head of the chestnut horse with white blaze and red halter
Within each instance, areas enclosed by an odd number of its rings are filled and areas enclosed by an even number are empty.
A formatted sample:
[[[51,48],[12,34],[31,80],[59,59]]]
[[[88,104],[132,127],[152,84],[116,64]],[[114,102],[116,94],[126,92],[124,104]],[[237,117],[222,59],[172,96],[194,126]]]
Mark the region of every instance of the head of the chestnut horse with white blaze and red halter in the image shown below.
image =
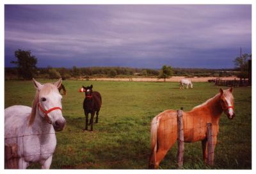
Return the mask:
[[[233,119],[236,115],[234,112],[234,97],[232,95],[233,88],[229,88],[228,90],[222,90],[220,88],[220,103],[221,107],[228,116],[228,119]]]

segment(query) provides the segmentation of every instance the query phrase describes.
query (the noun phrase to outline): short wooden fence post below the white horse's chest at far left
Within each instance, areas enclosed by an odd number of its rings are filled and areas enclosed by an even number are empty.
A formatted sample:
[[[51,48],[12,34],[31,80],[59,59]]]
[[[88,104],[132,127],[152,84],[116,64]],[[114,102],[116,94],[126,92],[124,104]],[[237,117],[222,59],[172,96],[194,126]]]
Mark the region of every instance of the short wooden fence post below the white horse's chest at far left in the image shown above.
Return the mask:
[[[4,168],[19,168],[18,145],[16,143],[11,145],[4,145]]]

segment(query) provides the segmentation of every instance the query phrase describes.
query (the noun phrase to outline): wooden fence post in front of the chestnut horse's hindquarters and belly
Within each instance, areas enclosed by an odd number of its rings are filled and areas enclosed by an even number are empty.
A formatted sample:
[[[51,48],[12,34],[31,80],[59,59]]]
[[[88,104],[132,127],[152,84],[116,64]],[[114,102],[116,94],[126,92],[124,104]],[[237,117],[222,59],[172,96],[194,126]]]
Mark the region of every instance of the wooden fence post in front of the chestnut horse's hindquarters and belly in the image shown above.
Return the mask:
[[[183,122],[182,122],[182,110],[177,111],[177,127],[178,127],[178,168],[183,166],[183,154],[184,154],[184,131],[183,131]]]

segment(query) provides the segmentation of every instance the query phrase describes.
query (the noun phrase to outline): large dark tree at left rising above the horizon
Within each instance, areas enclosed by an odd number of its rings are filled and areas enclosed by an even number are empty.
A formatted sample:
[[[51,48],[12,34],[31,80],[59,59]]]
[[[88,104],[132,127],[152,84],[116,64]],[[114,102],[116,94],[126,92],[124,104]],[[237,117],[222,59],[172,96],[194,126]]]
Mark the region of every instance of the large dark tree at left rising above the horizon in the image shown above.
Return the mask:
[[[30,80],[34,77],[36,72],[37,59],[31,55],[31,51],[23,51],[21,49],[14,52],[17,61],[11,63],[17,65],[20,77]]]

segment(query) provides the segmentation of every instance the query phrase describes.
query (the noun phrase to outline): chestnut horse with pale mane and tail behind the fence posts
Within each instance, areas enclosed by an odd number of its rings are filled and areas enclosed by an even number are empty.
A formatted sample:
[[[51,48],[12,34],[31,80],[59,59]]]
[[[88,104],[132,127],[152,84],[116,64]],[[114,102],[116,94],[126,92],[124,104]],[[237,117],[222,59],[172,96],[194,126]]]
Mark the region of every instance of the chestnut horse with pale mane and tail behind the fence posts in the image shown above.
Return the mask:
[[[220,93],[191,111],[183,112],[184,142],[202,141],[204,161],[207,161],[207,123],[212,123],[212,141],[215,148],[221,113],[233,119],[234,97],[232,88],[220,89]],[[149,168],[158,168],[159,163],[177,140],[177,111],[168,109],[155,116],[151,122],[151,155]]]

